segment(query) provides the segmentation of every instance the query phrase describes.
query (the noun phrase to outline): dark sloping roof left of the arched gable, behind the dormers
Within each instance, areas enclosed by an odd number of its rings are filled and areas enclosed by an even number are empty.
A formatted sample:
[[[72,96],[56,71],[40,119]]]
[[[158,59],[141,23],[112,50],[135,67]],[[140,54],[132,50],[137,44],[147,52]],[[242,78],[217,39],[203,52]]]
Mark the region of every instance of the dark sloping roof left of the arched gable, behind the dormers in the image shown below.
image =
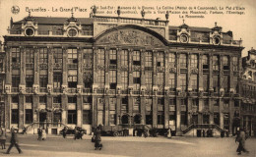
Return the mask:
[[[32,17],[35,22],[37,22],[39,25],[63,25],[67,22],[67,19],[69,18],[58,18],[58,17]],[[93,18],[77,18],[78,23],[81,23],[81,25],[92,25],[94,22]],[[25,22],[25,19],[18,21],[14,23],[22,24]]]

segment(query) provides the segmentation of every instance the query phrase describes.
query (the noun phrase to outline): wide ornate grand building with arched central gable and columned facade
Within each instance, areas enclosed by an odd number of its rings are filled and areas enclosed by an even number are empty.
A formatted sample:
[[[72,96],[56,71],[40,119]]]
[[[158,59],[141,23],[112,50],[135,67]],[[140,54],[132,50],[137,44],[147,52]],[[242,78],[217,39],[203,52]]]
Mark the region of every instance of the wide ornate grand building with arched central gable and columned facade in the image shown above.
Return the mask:
[[[96,16],[32,17],[5,38],[5,126],[48,123],[233,132],[240,111],[241,40],[221,26]],[[55,125],[54,125],[55,124]]]

